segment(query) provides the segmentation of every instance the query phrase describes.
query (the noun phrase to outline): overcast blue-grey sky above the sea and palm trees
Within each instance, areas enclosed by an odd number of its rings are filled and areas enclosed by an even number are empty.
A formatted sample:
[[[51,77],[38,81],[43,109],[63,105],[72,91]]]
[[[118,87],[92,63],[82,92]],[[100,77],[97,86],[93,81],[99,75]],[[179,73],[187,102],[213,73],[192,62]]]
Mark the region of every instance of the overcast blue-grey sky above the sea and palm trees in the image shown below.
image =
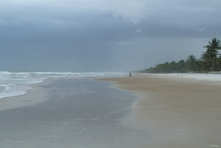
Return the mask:
[[[199,58],[220,0],[1,0],[0,71],[131,71]]]

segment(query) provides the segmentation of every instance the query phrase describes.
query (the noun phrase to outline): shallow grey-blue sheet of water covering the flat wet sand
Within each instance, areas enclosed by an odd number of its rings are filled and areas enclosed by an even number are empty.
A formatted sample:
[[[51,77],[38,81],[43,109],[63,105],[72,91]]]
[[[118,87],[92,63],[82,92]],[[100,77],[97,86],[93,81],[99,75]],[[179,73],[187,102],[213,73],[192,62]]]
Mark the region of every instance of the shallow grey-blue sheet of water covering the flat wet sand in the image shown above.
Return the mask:
[[[134,148],[148,131],[123,124],[136,97],[88,79],[57,80],[42,86],[49,100],[0,112],[0,147]]]

